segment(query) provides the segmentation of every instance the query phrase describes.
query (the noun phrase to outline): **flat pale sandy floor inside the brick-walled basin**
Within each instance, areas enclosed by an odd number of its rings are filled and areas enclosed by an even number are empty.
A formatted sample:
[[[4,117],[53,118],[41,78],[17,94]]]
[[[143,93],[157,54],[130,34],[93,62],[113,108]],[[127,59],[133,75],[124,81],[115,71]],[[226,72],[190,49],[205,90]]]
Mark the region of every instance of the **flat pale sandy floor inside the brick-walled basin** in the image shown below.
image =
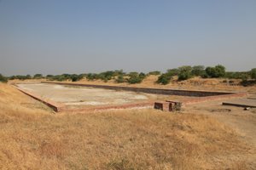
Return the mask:
[[[123,105],[147,100],[187,98],[46,83],[24,83],[18,84],[18,86],[32,94],[38,94],[44,99],[51,99],[64,105]]]

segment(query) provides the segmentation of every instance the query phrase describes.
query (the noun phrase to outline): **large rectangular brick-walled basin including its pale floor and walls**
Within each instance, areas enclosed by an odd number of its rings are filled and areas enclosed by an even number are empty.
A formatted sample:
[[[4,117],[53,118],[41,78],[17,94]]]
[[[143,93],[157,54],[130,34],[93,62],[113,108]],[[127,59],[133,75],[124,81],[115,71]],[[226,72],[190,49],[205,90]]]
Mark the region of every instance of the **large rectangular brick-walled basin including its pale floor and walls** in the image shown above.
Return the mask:
[[[67,82],[17,83],[15,88],[33,99],[38,99],[56,112],[105,111],[144,107],[157,107],[162,111],[173,111],[177,102],[182,103],[182,105],[189,105],[246,95],[244,93],[131,88]],[[160,102],[154,105],[155,101]]]

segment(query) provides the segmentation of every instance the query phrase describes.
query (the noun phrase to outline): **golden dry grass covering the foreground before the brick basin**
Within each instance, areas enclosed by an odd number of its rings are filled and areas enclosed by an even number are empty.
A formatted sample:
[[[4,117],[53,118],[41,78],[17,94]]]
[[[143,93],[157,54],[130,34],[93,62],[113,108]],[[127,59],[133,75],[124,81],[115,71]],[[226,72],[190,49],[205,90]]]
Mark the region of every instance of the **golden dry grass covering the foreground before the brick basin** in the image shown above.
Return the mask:
[[[196,110],[195,110],[196,111]],[[212,116],[53,114],[0,83],[0,169],[255,169],[255,148]]]

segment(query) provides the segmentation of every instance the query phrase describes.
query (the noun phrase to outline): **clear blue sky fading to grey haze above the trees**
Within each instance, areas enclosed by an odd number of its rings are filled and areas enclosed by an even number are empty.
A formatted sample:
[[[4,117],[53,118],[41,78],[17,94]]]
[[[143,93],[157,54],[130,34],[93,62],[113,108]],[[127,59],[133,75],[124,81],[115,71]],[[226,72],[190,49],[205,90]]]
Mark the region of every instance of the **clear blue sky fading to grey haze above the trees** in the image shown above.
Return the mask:
[[[0,0],[0,73],[256,67],[256,0]]]

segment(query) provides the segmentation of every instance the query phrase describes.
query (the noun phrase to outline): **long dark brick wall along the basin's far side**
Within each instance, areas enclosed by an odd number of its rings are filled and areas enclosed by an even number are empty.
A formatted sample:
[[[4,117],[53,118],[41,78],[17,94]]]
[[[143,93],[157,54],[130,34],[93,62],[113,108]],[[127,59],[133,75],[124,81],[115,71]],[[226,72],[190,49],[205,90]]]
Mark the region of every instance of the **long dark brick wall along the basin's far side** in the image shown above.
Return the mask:
[[[81,83],[69,83],[69,82],[42,82],[49,84],[59,85],[70,85],[70,86],[81,86],[89,88],[105,88],[113,90],[125,90],[133,92],[142,92],[146,94],[164,94],[164,95],[181,95],[181,96],[194,96],[194,97],[205,97],[215,96],[224,94],[235,94],[230,92],[209,92],[209,91],[196,91],[196,90],[177,90],[177,89],[166,89],[166,88],[133,88],[124,86],[108,86],[108,85],[94,85],[94,84],[81,84]]]

